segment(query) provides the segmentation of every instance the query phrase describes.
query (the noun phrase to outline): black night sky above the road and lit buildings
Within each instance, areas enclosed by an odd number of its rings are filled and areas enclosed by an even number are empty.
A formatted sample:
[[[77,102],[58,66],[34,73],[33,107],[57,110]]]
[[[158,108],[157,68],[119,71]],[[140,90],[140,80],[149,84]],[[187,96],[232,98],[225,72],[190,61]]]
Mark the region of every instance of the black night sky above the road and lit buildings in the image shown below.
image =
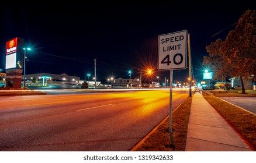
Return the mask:
[[[24,38],[27,47],[26,74],[67,73],[132,78],[142,69],[169,78],[169,70],[157,70],[158,36],[187,30],[191,41],[192,75],[202,78],[205,47],[226,38],[241,15],[255,9],[252,1],[88,2],[1,4],[0,69],[5,72],[6,41]],[[57,2],[56,2],[57,3]],[[223,30],[223,31],[222,31]],[[222,31],[221,33],[219,33]],[[219,34],[217,34],[219,33]],[[215,35],[216,34],[216,35]],[[174,70],[174,80],[186,80],[188,69]]]

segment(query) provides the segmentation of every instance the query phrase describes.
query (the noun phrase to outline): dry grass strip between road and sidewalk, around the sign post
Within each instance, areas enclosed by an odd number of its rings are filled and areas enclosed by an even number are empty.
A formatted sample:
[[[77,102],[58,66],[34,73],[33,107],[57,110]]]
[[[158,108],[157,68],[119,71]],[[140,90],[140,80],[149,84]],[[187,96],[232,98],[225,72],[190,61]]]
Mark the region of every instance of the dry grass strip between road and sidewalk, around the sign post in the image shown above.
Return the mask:
[[[134,151],[185,151],[186,134],[191,109],[192,97],[188,97],[172,112],[172,137],[169,136],[169,116],[161,125]]]

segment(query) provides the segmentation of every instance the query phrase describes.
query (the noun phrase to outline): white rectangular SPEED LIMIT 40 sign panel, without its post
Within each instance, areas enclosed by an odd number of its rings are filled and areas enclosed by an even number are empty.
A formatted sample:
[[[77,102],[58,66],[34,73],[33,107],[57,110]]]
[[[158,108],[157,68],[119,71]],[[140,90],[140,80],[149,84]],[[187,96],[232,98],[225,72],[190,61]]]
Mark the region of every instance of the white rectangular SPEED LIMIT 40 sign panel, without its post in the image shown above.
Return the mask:
[[[158,70],[186,69],[188,31],[158,36]]]

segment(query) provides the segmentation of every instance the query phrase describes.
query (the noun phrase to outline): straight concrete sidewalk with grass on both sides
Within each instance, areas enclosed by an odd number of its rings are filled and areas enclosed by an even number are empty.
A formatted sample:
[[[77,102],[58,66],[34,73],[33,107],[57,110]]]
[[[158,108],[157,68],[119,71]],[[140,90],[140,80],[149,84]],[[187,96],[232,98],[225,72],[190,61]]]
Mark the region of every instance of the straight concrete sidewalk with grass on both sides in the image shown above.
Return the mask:
[[[203,95],[192,98],[185,151],[254,151]]]

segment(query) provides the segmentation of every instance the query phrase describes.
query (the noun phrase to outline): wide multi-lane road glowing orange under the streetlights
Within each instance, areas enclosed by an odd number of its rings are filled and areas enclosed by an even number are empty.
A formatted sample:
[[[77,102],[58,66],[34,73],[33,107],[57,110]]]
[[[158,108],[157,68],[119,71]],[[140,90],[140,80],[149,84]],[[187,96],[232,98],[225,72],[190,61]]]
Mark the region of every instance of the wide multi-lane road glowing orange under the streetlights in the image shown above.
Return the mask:
[[[172,109],[188,95],[174,90]],[[0,101],[0,151],[129,151],[169,114],[169,90]]]

